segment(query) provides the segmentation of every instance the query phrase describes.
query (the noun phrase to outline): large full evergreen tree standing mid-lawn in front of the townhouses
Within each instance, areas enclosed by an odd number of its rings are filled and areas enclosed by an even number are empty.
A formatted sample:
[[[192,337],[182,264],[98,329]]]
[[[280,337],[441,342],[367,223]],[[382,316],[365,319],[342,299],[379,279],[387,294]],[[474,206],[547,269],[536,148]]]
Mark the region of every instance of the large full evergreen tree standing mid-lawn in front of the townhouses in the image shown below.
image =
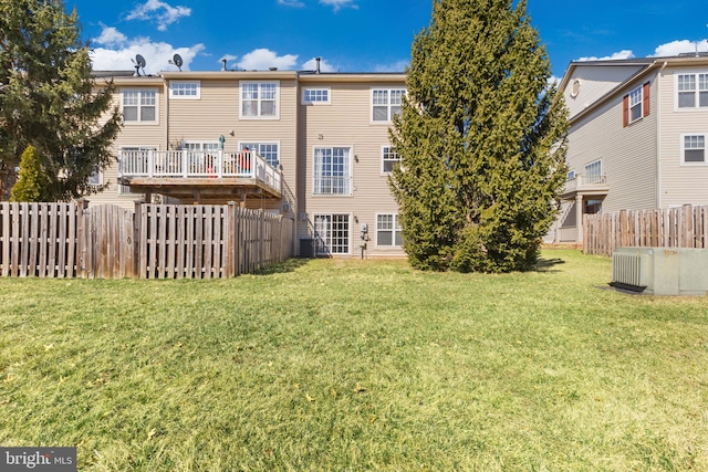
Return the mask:
[[[414,40],[391,187],[416,268],[530,270],[556,216],[566,108],[525,6],[435,0]]]

